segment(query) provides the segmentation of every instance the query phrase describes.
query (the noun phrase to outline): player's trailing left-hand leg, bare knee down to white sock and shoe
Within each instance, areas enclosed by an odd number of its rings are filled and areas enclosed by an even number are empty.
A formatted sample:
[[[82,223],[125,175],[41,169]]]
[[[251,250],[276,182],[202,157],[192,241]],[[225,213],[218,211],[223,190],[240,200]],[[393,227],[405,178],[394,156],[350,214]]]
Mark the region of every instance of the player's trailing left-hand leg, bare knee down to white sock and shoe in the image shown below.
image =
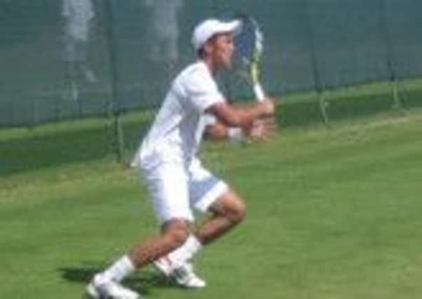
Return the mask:
[[[137,268],[143,267],[157,258],[175,250],[189,236],[189,223],[182,219],[172,219],[162,227],[161,235],[151,237],[134,246],[128,254],[93,278],[88,285],[88,294],[93,298],[123,296],[124,298],[139,298],[134,291],[118,284]]]

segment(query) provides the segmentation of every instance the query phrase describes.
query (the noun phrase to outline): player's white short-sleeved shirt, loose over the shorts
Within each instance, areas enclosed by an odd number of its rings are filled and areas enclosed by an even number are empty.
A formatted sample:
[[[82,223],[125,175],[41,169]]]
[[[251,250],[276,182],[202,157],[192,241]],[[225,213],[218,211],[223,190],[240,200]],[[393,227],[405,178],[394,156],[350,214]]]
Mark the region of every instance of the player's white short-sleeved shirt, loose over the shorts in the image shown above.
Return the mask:
[[[163,162],[189,167],[203,136],[205,110],[225,99],[202,61],[186,67],[172,83],[132,164],[151,169]]]

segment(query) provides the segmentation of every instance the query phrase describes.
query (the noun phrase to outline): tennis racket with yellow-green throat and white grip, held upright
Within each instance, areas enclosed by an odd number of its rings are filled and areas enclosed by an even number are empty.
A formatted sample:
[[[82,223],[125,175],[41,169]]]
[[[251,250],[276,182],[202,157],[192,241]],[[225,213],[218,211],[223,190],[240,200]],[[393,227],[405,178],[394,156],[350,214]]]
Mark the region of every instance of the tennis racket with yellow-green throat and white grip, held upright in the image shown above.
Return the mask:
[[[266,98],[259,81],[259,65],[264,50],[264,35],[257,21],[253,18],[244,14],[238,14],[237,18],[241,22],[241,27],[234,38],[236,55],[246,67],[247,77],[252,83],[254,95],[261,102]]]

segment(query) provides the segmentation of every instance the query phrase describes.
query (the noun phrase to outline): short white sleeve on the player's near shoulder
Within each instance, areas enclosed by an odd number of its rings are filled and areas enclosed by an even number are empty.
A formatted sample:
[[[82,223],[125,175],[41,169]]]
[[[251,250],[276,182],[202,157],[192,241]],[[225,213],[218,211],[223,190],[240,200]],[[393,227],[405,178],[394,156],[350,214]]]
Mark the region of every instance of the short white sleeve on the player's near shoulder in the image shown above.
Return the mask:
[[[202,68],[197,68],[186,76],[184,90],[187,104],[199,113],[203,113],[213,104],[225,101],[212,76]]]

